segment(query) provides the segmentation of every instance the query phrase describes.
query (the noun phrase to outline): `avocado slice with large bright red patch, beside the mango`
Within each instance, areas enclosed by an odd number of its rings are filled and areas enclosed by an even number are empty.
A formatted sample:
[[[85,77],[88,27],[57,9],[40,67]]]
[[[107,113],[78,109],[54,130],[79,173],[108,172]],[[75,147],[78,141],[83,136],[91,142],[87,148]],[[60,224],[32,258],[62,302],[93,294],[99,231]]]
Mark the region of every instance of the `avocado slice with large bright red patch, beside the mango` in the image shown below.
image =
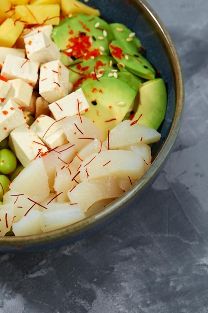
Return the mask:
[[[82,13],[65,17],[54,26],[52,39],[60,48],[61,61],[69,65],[75,59],[90,59],[109,54],[108,42],[114,39],[109,24],[102,18]]]

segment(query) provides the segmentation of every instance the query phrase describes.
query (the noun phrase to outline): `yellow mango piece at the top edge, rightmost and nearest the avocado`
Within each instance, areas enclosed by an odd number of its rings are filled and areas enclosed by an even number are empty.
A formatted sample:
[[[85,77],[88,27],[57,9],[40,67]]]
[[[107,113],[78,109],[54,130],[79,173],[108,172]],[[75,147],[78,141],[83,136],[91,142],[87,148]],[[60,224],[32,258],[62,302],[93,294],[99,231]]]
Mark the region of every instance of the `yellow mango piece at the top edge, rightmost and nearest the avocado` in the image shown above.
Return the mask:
[[[100,15],[100,11],[87,4],[84,4],[77,0],[61,0],[61,10],[63,15],[71,13],[85,13],[88,15]]]

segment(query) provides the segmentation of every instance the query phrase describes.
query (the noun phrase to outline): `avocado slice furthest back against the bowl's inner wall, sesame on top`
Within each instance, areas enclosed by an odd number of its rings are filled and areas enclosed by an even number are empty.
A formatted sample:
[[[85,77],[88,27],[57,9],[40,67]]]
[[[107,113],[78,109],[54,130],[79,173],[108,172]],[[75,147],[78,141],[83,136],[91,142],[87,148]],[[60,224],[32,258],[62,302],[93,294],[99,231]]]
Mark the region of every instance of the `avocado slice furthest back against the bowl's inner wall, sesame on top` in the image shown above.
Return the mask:
[[[127,42],[134,43],[138,49],[142,46],[140,40],[137,38],[135,32],[121,23],[111,23],[110,27],[113,31],[115,39],[125,39]]]

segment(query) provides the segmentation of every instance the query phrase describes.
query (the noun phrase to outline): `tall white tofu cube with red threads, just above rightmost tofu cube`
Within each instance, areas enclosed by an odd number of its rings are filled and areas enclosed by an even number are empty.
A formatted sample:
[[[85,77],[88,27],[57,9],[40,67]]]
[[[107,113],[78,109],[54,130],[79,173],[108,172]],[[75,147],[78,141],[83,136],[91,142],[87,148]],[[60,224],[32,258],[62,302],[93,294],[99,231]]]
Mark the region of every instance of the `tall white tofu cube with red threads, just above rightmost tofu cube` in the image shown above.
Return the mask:
[[[50,61],[40,66],[39,93],[49,103],[69,92],[69,70],[60,60]]]

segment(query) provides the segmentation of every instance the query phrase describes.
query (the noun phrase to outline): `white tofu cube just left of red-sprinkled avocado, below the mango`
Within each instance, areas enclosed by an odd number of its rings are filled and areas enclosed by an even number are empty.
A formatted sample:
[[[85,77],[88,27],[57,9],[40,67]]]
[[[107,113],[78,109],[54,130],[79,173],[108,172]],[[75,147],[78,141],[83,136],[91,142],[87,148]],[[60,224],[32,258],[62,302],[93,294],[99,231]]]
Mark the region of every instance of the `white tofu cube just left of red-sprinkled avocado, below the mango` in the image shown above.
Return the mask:
[[[24,38],[27,57],[40,64],[61,58],[55,43],[44,32],[37,32]]]

